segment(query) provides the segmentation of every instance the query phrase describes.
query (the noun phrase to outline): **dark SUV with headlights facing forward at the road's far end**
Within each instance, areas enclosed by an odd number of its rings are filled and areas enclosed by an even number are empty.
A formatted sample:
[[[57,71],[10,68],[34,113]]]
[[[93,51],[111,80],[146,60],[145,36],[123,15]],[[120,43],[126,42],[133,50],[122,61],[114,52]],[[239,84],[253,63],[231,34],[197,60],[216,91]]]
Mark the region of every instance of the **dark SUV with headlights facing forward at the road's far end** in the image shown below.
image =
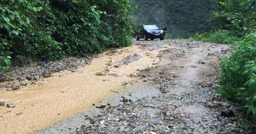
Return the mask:
[[[144,38],[145,40],[151,39],[164,39],[164,31],[156,25],[141,25],[140,31],[136,33],[136,40]]]

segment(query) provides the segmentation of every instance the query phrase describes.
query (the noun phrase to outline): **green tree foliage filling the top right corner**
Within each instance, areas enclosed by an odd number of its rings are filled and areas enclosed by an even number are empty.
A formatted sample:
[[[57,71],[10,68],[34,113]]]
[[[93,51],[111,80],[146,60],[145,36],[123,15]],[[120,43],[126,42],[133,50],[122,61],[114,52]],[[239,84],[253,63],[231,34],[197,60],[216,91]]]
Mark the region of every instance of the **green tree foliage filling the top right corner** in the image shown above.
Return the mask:
[[[230,30],[244,36],[256,28],[255,0],[212,0],[215,8],[212,26],[215,30]]]

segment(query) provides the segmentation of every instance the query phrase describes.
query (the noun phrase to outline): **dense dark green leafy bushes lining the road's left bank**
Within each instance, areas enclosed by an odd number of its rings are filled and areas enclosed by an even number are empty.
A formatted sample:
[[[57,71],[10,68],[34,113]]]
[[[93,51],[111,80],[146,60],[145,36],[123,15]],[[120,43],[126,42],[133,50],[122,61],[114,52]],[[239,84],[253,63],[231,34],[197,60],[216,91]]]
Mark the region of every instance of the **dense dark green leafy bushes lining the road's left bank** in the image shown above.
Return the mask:
[[[0,0],[0,69],[131,43],[133,0]]]

